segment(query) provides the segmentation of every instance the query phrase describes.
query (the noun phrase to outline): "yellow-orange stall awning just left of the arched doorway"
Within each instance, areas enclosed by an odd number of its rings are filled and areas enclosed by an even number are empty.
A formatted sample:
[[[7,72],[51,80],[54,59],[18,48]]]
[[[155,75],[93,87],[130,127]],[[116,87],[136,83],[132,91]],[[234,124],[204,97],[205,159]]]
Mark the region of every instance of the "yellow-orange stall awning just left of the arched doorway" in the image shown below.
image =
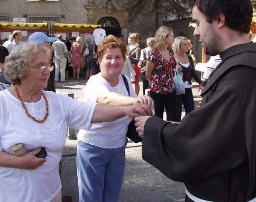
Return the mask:
[[[88,25],[88,24],[62,24],[55,23],[52,29],[53,33],[56,32],[64,32],[64,33],[72,33],[72,32],[80,32],[80,33],[93,33],[94,29],[101,27],[101,25]]]

